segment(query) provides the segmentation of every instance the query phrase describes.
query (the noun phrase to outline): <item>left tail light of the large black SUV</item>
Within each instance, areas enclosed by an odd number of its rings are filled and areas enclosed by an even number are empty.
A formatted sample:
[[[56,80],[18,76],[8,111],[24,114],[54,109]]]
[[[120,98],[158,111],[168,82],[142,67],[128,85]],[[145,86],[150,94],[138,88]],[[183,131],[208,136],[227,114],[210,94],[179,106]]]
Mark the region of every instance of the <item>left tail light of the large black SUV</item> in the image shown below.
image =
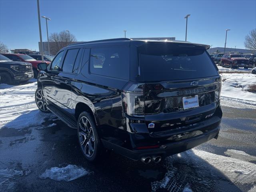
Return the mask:
[[[145,84],[128,84],[128,89],[122,92],[124,112],[130,116],[144,115]]]

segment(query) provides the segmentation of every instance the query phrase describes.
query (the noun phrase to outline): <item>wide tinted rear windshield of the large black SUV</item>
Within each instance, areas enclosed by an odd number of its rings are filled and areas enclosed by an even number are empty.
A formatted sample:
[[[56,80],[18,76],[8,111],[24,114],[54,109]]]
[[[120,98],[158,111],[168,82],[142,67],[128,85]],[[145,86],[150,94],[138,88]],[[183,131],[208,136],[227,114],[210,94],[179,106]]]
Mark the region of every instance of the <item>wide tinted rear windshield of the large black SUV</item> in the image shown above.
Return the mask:
[[[202,46],[148,42],[138,47],[145,81],[183,80],[218,75]]]

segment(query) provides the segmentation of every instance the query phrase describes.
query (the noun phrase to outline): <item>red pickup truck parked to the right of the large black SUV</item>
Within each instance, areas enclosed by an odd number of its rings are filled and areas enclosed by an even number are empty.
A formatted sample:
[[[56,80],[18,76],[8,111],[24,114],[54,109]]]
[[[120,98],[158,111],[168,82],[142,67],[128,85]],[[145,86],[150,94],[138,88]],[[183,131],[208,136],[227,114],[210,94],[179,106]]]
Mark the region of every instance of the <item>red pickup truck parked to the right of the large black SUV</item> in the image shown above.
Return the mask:
[[[248,69],[248,60],[242,54],[225,54],[221,58],[221,66],[232,69],[243,67]]]

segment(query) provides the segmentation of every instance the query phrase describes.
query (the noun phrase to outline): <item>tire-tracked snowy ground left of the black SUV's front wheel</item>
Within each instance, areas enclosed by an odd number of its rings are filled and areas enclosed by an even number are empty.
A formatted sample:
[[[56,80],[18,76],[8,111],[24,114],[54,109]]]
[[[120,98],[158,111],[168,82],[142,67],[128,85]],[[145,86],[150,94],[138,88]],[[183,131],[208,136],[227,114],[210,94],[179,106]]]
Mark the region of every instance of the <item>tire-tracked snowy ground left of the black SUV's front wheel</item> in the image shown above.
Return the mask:
[[[35,80],[24,85],[0,84],[0,128],[25,128],[37,126],[52,114],[40,112],[34,100]]]

